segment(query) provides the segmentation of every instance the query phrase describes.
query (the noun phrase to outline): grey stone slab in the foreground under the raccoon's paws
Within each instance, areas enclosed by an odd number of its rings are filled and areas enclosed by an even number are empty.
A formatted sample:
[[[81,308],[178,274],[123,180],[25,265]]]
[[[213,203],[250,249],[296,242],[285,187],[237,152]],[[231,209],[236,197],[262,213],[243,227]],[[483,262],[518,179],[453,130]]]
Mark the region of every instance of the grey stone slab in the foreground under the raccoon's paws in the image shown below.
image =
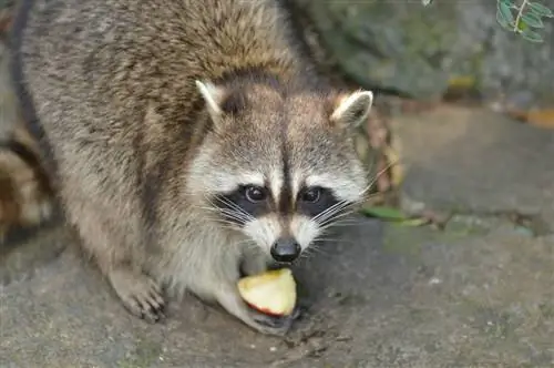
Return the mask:
[[[308,313],[286,340],[192,297],[147,325],[69,248],[2,289],[0,367],[554,365],[554,239],[470,227],[350,228],[296,270]]]

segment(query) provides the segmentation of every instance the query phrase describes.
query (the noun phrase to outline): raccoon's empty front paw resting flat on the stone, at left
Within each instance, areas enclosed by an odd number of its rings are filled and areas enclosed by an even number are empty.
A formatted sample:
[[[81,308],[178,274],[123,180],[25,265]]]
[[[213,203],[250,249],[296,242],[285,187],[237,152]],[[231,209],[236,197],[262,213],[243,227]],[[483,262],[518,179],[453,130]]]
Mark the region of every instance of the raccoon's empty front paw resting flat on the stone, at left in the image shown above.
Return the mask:
[[[112,270],[109,278],[123,306],[131,314],[148,323],[156,323],[165,317],[162,289],[152,278],[126,268]]]

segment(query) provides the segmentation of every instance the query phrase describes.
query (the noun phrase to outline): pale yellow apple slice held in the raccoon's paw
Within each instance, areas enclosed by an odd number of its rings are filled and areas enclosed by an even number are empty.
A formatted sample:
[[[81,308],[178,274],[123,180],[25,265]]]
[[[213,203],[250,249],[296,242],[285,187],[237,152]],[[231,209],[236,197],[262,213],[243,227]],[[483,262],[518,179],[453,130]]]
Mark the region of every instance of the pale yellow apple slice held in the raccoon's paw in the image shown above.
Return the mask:
[[[266,315],[288,316],[295,309],[296,282],[288,268],[243,277],[237,286],[243,299]]]

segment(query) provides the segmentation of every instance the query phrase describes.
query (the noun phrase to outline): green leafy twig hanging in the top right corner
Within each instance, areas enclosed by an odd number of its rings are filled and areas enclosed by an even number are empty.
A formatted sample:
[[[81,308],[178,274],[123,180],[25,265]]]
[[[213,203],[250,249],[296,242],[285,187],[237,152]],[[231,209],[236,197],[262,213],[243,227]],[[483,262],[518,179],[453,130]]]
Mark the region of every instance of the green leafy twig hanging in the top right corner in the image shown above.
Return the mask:
[[[496,0],[496,22],[506,31],[520,34],[530,42],[543,42],[537,30],[544,28],[544,18],[554,18],[552,10],[537,1]],[[421,0],[429,6],[433,0]]]

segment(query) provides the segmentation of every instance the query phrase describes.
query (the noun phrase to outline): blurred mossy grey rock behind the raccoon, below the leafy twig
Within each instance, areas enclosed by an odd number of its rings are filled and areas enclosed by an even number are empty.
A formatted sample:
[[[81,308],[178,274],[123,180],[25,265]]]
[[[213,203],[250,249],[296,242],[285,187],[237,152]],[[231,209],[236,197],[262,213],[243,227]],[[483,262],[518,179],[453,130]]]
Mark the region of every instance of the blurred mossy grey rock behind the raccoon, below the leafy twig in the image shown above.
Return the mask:
[[[293,1],[334,64],[365,85],[427,99],[463,76],[485,96],[554,103],[552,19],[532,43],[496,23],[496,1]]]

